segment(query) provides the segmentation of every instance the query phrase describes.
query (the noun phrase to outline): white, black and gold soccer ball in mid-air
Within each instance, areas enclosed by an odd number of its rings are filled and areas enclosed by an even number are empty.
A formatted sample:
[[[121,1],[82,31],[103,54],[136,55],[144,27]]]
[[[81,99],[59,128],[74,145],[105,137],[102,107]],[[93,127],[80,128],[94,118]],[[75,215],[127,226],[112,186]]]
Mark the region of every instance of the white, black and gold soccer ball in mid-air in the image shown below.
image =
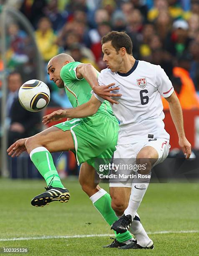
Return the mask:
[[[23,108],[31,112],[38,112],[48,105],[50,90],[44,82],[33,79],[20,87],[18,96]]]

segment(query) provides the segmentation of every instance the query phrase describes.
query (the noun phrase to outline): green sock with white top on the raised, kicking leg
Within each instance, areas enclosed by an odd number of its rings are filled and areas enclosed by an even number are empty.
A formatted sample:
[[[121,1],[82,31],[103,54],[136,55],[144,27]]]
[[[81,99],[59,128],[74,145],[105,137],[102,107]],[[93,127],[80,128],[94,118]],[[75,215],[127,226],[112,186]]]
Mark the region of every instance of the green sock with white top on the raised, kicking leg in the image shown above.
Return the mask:
[[[30,159],[40,174],[44,177],[47,186],[64,187],[53,163],[53,158],[45,147],[38,147],[30,152]]]

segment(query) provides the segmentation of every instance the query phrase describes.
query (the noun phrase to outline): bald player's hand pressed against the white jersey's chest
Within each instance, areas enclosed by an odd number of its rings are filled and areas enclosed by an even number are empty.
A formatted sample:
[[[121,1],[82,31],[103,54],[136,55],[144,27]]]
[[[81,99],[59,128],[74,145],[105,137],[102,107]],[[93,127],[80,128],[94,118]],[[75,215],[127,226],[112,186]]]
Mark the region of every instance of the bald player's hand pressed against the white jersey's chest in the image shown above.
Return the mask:
[[[113,87],[111,86],[115,85],[115,83],[108,84],[108,85],[100,85],[100,86],[93,86],[93,92],[95,92],[97,95],[102,97],[104,100],[108,100],[112,104],[118,104],[116,100],[113,100],[112,97],[120,97],[121,94],[119,93],[111,93],[112,91],[119,90],[119,87]]]

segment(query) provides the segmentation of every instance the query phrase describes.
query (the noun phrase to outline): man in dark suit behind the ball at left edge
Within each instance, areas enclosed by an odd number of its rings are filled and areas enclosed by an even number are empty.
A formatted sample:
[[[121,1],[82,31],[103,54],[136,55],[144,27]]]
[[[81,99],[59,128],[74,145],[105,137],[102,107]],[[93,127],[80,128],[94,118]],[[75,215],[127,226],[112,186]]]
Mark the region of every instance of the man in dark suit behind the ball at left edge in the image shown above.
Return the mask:
[[[7,117],[10,121],[8,130],[8,145],[14,141],[32,136],[40,130],[40,113],[25,110],[19,103],[18,90],[22,85],[21,75],[13,72],[8,76]]]

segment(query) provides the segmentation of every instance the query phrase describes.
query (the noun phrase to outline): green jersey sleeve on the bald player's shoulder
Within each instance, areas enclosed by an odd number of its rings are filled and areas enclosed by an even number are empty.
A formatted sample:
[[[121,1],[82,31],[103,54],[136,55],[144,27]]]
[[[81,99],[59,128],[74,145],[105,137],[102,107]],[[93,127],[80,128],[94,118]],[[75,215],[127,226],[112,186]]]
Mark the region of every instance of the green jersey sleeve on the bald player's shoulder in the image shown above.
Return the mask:
[[[70,62],[62,67],[60,71],[60,77],[64,83],[69,84],[74,80],[82,80],[78,79],[76,76],[76,68],[81,64],[81,62],[75,61]]]

